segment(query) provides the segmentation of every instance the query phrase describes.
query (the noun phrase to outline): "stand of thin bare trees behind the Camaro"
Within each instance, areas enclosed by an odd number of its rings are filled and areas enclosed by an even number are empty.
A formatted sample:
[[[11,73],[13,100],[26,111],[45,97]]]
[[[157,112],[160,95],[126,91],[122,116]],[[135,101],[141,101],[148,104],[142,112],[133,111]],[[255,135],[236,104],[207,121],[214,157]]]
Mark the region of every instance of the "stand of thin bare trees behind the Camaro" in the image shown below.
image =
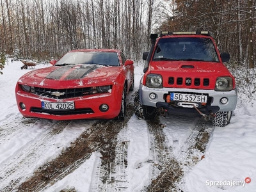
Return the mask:
[[[157,2],[1,0],[0,51],[44,60],[70,49],[114,48],[139,60],[154,31]]]

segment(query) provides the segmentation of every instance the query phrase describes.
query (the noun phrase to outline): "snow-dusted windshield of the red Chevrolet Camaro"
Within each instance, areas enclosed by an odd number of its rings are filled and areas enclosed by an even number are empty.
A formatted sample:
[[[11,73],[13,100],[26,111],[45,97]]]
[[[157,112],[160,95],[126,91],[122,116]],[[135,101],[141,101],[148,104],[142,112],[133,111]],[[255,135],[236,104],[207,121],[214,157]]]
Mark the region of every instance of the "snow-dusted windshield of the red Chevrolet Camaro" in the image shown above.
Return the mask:
[[[68,52],[56,65],[68,64],[96,64],[106,66],[119,66],[116,52]]]

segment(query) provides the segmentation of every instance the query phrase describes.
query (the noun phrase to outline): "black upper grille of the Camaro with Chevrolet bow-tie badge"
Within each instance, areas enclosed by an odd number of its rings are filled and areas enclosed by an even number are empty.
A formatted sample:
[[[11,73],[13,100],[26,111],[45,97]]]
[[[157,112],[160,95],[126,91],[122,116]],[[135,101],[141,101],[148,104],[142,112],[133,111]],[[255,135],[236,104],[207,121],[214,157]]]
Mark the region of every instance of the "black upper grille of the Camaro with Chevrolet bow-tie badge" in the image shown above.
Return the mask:
[[[51,89],[35,87],[35,92],[33,93],[35,93],[36,95],[41,95],[52,99],[68,99],[72,97],[82,97],[84,95],[91,95],[95,91],[95,87],[69,89]]]

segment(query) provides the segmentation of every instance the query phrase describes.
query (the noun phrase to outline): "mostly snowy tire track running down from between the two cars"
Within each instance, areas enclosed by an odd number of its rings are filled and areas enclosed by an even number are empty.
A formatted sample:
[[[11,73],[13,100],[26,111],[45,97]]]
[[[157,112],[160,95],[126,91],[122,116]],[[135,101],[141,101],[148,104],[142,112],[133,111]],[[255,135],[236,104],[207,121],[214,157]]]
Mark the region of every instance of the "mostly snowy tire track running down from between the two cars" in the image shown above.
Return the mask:
[[[127,167],[127,122],[133,115],[133,106],[127,105],[127,115],[124,121],[113,124],[115,134],[111,142],[100,148],[101,164],[97,169],[92,191],[127,191],[128,180],[125,168]]]

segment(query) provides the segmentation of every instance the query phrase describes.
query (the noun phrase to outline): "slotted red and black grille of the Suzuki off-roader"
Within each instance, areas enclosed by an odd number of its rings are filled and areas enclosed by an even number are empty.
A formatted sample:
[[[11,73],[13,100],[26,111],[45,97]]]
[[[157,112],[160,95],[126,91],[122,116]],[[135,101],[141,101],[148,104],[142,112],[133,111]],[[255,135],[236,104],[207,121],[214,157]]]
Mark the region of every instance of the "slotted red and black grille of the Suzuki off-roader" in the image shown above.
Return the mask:
[[[208,78],[200,79],[200,78],[191,78],[191,77],[169,77],[169,84],[177,84],[177,85],[186,85],[186,86],[209,86],[210,80]]]

